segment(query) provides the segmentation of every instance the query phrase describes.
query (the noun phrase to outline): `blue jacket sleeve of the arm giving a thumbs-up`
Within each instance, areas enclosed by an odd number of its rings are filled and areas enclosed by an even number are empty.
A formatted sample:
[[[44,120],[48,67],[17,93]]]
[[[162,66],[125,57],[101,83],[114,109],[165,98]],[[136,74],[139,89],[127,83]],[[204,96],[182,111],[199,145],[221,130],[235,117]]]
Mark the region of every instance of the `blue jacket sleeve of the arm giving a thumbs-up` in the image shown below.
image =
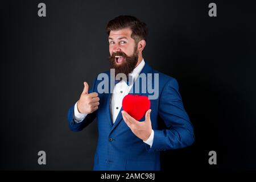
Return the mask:
[[[96,79],[94,80],[93,85],[89,90],[89,93],[95,92],[96,90],[95,87],[96,87]],[[87,114],[86,117],[81,122],[77,123],[74,117],[74,107],[75,107],[75,104],[68,110],[68,126],[71,131],[81,131],[86,126],[88,126],[91,122],[93,122],[93,120],[96,118],[97,110],[91,114]]]

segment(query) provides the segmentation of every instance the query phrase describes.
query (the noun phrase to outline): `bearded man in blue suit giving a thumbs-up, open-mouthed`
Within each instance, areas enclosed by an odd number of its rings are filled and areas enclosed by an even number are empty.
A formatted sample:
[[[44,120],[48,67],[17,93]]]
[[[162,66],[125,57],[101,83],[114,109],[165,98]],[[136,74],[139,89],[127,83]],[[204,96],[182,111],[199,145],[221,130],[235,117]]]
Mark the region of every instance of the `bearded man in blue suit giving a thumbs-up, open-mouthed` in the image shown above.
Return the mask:
[[[134,16],[122,15],[110,20],[106,32],[110,68],[115,76],[122,73],[132,79],[117,80],[113,92],[105,93],[98,92],[97,78],[90,90],[84,82],[79,101],[68,111],[69,128],[81,131],[97,118],[94,170],[160,170],[161,151],[190,146],[195,139],[179,86],[175,78],[152,69],[143,59],[148,34],[145,23]],[[110,71],[105,73],[111,76]],[[150,109],[137,121],[122,109],[122,101],[127,94],[150,95],[143,93],[143,88],[139,93],[131,93],[142,74],[158,74],[159,80],[157,84],[154,80],[153,85],[158,86],[159,96],[150,100]]]

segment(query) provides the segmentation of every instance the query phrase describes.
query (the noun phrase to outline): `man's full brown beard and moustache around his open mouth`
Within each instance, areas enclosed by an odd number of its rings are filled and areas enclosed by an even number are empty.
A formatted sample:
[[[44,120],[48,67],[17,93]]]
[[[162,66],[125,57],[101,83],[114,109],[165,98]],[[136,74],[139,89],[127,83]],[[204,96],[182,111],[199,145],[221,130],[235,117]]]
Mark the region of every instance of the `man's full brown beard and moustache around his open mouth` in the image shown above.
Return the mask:
[[[113,53],[112,56],[109,57],[109,63],[110,68],[115,69],[115,76],[117,76],[118,73],[123,73],[126,75],[126,77],[129,77],[129,73],[133,71],[136,64],[138,63],[138,51],[137,47],[134,48],[134,54],[133,56],[127,56],[124,52],[116,52]],[[123,56],[125,57],[125,60],[121,64],[115,63],[115,59],[117,59],[115,56]]]

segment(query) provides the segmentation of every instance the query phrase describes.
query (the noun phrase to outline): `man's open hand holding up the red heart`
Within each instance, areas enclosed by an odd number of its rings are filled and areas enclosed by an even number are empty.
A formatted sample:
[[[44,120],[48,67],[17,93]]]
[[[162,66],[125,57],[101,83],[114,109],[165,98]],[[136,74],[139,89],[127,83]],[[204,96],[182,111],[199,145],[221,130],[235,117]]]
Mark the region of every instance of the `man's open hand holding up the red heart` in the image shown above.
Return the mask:
[[[131,117],[126,111],[122,110],[123,120],[126,125],[131,129],[131,131],[143,141],[146,141],[152,131],[151,120],[150,120],[151,109],[148,109],[145,114],[145,121],[139,122],[133,117]]]

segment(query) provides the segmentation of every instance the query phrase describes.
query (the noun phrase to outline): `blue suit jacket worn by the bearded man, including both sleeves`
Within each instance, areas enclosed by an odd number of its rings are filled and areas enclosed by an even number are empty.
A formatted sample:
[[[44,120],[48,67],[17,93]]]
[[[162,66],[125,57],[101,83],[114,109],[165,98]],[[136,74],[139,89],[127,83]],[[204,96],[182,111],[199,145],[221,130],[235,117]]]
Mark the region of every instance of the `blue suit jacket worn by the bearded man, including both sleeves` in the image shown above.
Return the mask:
[[[105,73],[110,75],[109,72]],[[110,93],[99,94],[98,110],[88,114],[80,123],[73,119],[75,104],[68,111],[68,125],[72,131],[81,131],[97,118],[98,144],[94,170],[160,170],[160,151],[186,147],[194,141],[193,126],[183,107],[175,78],[155,71],[147,63],[141,73],[159,73],[159,97],[150,100],[150,118],[154,130],[151,148],[136,137],[123,121],[122,108],[113,124],[109,107]],[[97,92],[99,82],[94,80],[90,92]],[[154,80],[147,84],[154,85]],[[148,96],[148,93],[139,94]]]

